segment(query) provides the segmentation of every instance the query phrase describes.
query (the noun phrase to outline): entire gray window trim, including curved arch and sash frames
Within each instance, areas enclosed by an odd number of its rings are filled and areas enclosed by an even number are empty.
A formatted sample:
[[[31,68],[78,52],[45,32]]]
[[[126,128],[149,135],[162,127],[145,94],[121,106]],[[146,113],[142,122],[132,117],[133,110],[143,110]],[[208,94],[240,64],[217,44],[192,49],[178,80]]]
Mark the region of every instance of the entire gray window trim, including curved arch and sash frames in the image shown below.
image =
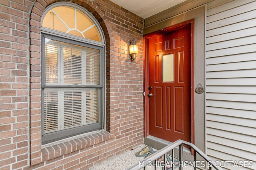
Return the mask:
[[[44,16],[46,15],[46,13],[51,10],[52,8],[55,8],[57,6],[70,6],[73,8],[76,8],[82,12],[84,12],[84,14],[86,14],[88,17],[90,17],[90,19],[94,22],[94,24],[96,25],[96,27],[99,30],[99,33],[101,35],[102,38],[102,42],[99,41],[94,41],[94,40],[90,40],[90,39],[86,39],[86,38],[82,38],[82,37],[78,37],[75,35],[71,35],[68,33],[63,33],[60,31],[56,31],[56,30],[52,30],[52,29],[48,29],[45,27],[41,27],[41,52],[42,52],[42,57],[44,57],[44,53],[45,53],[45,47],[44,47],[44,37],[50,37],[53,39],[56,39],[58,41],[64,41],[66,43],[71,43],[71,44],[76,44],[76,45],[81,45],[84,47],[90,47],[90,48],[98,48],[100,49],[100,84],[99,85],[84,85],[81,86],[81,88],[98,88],[98,99],[99,99],[99,103],[98,103],[98,110],[99,110],[99,115],[98,115],[98,119],[99,119],[99,123],[94,123],[94,124],[90,124],[90,125],[84,125],[81,127],[76,127],[76,128],[71,128],[71,129],[66,129],[63,130],[62,134],[66,134],[65,136],[58,134],[58,137],[56,137],[56,139],[52,139],[52,137],[57,136],[57,133],[47,133],[44,134],[44,88],[56,88],[56,86],[52,86],[52,85],[45,85],[45,63],[44,63],[44,59],[42,59],[42,70],[41,70],[41,78],[42,78],[42,92],[41,92],[41,115],[42,115],[42,123],[41,123],[41,127],[42,127],[42,145],[46,144],[46,143],[51,143],[54,141],[58,141],[64,138],[68,138],[71,136],[75,136],[75,135],[79,135],[79,134],[83,134],[83,133],[87,133],[87,132],[91,132],[91,131],[97,131],[97,130],[106,130],[106,40],[104,37],[104,32],[102,30],[102,27],[100,26],[100,24],[98,23],[98,21],[94,18],[94,16],[88,12],[85,8],[82,8],[81,6],[78,6],[74,3],[71,2],[56,2],[53,3],[51,5],[49,5],[46,10],[44,11],[42,18],[41,18],[41,24],[42,24],[42,20],[44,19]],[[44,82],[44,83],[43,83]],[[62,86],[58,86],[60,88],[62,88]],[[77,86],[70,86],[70,88],[76,88]],[[64,88],[64,87],[63,87]],[[65,86],[66,88],[66,86]],[[77,131],[77,134],[74,135],[74,131]],[[71,135],[72,133],[72,135]],[[58,138],[58,139],[57,139]]]

